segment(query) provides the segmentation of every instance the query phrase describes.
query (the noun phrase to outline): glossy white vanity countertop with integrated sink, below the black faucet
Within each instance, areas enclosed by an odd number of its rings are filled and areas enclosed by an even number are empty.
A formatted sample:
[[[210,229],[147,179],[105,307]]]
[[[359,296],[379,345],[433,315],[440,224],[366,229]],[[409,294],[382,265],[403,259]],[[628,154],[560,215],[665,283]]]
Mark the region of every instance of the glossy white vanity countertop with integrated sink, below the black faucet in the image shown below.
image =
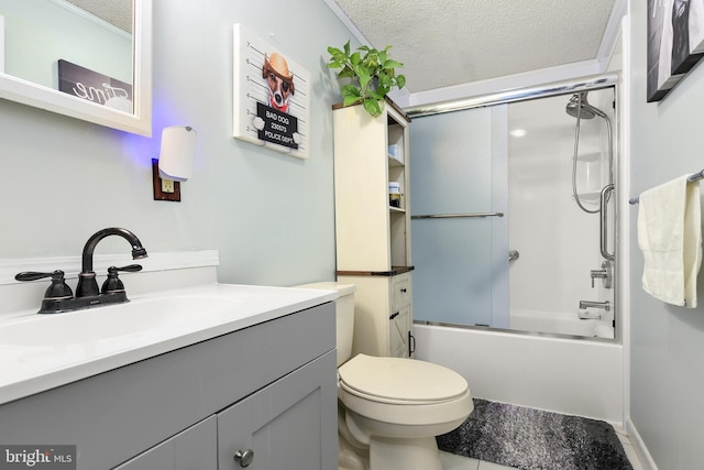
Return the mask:
[[[64,314],[20,313],[0,324],[0,404],[337,297],[334,291],[208,284]]]

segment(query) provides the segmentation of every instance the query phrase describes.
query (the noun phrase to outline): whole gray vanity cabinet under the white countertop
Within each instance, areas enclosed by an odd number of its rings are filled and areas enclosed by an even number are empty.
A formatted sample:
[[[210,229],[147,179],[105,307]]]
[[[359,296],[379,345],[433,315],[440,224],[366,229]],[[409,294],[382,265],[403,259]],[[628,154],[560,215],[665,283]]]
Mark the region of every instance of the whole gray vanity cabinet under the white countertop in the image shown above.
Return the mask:
[[[77,470],[338,467],[334,304],[0,405],[0,444],[76,445]]]

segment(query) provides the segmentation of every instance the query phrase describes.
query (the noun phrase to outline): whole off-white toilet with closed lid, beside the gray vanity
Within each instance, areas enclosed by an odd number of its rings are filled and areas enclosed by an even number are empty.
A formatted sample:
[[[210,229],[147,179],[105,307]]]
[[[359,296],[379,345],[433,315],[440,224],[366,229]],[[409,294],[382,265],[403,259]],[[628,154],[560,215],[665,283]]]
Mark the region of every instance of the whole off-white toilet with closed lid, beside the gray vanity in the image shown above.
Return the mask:
[[[441,470],[436,436],[460,426],[474,405],[457,372],[407,358],[352,354],[352,284],[298,287],[338,291],[338,429],[340,470]]]

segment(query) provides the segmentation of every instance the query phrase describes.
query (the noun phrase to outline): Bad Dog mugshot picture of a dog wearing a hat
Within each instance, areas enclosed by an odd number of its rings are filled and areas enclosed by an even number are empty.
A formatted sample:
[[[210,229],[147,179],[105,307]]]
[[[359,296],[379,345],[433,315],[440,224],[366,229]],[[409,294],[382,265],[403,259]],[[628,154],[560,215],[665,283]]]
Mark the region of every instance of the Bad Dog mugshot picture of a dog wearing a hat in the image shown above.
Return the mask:
[[[233,81],[233,136],[308,159],[308,70],[235,24]]]

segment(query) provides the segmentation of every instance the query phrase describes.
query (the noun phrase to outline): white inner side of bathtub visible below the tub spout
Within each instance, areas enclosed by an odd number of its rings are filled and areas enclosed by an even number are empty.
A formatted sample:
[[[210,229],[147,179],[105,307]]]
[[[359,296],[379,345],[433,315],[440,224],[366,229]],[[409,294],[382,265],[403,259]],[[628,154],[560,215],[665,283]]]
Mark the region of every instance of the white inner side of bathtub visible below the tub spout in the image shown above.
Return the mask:
[[[519,331],[570,335],[586,338],[614,338],[613,316],[581,319],[578,313],[510,310],[510,329]]]

